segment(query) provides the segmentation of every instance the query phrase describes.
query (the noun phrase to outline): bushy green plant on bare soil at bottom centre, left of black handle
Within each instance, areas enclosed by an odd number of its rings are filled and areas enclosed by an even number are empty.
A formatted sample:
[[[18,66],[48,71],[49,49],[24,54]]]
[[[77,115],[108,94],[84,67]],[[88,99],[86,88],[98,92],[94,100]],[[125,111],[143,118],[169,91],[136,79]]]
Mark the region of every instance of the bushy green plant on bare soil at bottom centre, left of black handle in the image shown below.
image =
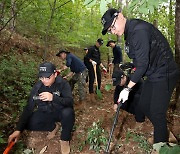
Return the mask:
[[[101,123],[93,122],[92,127],[88,129],[88,135],[86,139],[86,143],[90,145],[89,150],[93,149],[96,152],[99,152],[101,149],[104,149],[104,145],[107,143],[105,134],[105,130],[101,128]]]

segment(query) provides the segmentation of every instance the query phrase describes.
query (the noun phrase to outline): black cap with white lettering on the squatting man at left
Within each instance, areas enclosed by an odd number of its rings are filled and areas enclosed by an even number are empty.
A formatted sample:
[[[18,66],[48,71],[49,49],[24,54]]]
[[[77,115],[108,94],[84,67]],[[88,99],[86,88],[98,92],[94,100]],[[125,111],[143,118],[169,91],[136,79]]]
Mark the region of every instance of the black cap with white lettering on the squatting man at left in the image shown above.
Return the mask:
[[[56,72],[56,66],[50,62],[44,62],[39,65],[39,77],[49,77]]]

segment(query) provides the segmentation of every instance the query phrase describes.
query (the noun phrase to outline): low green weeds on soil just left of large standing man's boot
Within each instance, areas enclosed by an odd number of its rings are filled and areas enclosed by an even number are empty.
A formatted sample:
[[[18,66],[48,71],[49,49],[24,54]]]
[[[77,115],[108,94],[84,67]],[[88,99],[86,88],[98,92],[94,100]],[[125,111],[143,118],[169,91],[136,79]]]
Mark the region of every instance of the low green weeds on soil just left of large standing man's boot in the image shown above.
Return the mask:
[[[142,134],[136,134],[128,131],[126,134],[126,142],[129,142],[130,138],[132,138],[133,141],[138,142],[140,148],[142,148],[145,152],[151,151],[151,145],[147,142],[146,138]]]

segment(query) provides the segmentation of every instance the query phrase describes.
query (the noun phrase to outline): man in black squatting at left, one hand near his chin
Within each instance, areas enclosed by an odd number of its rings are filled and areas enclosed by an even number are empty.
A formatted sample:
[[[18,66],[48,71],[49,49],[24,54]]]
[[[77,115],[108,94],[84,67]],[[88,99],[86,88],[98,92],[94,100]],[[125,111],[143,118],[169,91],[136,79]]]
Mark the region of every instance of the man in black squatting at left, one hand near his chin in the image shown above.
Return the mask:
[[[16,142],[24,129],[52,131],[55,122],[61,122],[61,152],[68,154],[75,121],[71,87],[62,77],[57,76],[56,67],[50,62],[39,65],[38,76],[39,81],[32,88],[28,104],[8,142]]]

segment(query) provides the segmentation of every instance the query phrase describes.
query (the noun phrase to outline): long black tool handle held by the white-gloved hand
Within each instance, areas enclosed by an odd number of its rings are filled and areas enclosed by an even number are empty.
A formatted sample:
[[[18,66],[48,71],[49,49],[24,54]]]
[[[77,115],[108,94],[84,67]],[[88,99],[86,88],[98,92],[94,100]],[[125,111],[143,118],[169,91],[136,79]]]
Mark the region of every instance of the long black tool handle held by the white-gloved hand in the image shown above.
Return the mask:
[[[119,116],[119,111],[120,111],[121,106],[122,106],[122,101],[120,101],[119,104],[118,104],[118,108],[117,108],[117,111],[116,111],[116,114],[115,114],[113,126],[111,128],[111,132],[110,132],[110,135],[109,135],[108,144],[106,146],[106,150],[105,150],[104,154],[109,154],[109,146],[110,146],[110,143],[111,143],[111,139],[112,139],[112,135],[113,135],[115,126],[117,124],[117,119],[118,119],[118,116]]]

